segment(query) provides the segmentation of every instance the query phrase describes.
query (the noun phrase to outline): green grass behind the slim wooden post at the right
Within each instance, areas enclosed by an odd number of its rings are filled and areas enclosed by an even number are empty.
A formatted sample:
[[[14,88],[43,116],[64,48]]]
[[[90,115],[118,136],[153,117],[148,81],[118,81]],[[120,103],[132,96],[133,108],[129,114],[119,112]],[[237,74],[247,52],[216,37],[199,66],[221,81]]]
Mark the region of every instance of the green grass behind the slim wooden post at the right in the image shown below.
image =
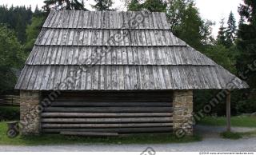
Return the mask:
[[[198,121],[199,125],[226,125],[226,117],[204,117]],[[255,116],[236,116],[231,117],[231,125],[239,127],[256,127]]]

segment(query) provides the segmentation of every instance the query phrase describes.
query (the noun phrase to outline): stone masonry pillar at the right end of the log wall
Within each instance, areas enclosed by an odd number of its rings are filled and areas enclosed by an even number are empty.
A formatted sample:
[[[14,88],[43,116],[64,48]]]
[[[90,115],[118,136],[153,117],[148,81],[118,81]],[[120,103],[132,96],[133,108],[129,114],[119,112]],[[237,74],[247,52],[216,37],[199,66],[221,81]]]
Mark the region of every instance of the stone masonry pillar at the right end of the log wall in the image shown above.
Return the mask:
[[[178,137],[193,134],[193,90],[174,90],[174,134]]]

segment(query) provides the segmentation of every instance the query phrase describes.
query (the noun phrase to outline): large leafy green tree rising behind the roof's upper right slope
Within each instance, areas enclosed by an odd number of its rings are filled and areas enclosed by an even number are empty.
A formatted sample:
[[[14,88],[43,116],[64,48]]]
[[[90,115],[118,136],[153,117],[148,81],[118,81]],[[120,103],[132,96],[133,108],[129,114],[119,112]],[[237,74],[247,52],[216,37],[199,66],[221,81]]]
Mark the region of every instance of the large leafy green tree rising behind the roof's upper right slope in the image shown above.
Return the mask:
[[[214,23],[200,17],[194,1],[174,0],[167,8],[172,32],[197,50],[213,41],[211,29]]]

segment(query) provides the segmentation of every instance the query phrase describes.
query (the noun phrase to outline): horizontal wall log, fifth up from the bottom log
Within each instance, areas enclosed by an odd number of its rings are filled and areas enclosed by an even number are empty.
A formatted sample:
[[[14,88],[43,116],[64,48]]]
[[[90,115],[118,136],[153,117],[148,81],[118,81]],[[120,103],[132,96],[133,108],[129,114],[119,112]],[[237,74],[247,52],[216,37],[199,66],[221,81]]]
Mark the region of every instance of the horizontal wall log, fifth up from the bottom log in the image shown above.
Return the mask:
[[[172,107],[46,107],[44,112],[84,112],[84,113],[136,113],[136,112],[154,112],[165,113],[172,112]]]

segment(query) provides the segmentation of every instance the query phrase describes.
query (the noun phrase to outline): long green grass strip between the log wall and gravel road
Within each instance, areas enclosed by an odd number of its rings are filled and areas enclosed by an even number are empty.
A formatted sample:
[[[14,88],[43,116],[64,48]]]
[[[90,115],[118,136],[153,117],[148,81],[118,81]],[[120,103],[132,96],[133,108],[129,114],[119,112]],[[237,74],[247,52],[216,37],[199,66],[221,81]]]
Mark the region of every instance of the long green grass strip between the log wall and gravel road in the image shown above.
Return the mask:
[[[60,145],[60,144],[162,144],[185,143],[201,141],[198,135],[177,138],[173,134],[158,133],[122,137],[76,137],[58,134],[44,134],[40,136],[18,136],[14,138],[6,135],[6,122],[0,122],[0,145]]]

